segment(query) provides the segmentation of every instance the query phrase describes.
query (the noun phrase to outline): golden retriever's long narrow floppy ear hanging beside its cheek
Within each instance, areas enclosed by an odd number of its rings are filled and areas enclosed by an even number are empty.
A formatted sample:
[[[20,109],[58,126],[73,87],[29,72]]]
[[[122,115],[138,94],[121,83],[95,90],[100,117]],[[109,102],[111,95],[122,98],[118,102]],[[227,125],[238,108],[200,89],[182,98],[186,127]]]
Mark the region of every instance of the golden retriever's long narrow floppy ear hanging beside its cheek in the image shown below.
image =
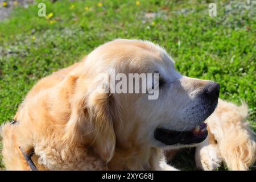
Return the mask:
[[[106,162],[112,159],[115,150],[114,118],[118,118],[118,111],[114,102],[112,94],[97,91],[90,95],[88,101],[89,115],[96,132],[94,146]]]

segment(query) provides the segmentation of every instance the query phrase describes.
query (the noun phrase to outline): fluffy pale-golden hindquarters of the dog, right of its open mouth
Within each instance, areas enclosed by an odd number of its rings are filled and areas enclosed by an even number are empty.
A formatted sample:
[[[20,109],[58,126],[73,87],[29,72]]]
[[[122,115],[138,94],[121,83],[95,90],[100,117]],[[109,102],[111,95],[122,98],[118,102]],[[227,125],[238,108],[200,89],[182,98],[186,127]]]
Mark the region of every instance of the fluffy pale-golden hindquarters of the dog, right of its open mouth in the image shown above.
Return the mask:
[[[218,100],[213,114],[205,121],[208,137],[196,146],[197,168],[211,171],[222,163],[233,171],[248,170],[256,160],[255,133],[246,122],[247,105],[241,106]],[[170,162],[179,150],[167,150]]]

